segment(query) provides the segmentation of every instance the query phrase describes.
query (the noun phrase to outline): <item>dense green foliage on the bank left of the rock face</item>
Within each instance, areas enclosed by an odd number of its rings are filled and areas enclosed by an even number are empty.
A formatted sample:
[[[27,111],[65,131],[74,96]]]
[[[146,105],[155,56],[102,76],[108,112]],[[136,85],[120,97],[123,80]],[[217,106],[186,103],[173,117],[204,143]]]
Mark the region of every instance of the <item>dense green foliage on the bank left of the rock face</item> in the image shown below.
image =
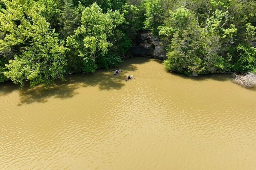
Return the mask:
[[[1,0],[0,82],[50,85],[115,66],[139,29],[127,0]]]

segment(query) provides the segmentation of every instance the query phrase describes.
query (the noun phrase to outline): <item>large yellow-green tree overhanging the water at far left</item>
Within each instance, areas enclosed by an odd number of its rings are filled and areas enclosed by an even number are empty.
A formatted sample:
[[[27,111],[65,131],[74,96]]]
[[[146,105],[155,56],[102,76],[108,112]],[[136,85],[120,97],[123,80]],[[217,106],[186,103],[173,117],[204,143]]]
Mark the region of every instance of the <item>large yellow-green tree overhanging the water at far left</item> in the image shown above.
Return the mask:
[[[64,79],[66,49],[40,16],[44,6],[32,0],[6,1],[5,5],[0,12],[0,53],[3,60],[11,60],[4,75],[21,86],[28,81],[31,87]]]

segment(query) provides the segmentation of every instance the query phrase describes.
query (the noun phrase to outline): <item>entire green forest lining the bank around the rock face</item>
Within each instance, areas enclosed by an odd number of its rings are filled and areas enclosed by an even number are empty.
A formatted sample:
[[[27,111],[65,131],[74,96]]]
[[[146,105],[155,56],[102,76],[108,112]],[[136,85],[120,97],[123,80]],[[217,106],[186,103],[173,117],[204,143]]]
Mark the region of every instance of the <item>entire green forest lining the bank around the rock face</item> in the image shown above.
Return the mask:
[[[117,66],[138,31],[162,40],[171,72],[256,72],[255,0],[1,0],[0,82]]]

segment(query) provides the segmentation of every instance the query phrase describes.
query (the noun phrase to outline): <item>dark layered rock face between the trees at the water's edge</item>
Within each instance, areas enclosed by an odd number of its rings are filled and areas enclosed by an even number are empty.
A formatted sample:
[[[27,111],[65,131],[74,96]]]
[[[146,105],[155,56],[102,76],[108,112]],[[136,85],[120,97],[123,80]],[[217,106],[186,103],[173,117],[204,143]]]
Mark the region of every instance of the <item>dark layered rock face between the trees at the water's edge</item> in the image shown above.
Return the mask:
[[[133,47],[129,50],[126,57],[153,57],[165,60],[166,51],[161,40],[151,32],[139,32],[133,40]]]

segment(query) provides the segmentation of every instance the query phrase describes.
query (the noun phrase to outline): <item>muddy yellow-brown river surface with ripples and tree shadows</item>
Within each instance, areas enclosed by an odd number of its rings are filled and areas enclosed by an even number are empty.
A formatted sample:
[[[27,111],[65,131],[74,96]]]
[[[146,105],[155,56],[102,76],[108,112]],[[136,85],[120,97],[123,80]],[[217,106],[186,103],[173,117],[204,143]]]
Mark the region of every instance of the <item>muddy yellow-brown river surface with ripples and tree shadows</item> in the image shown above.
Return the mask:
[[[0,169],[255,169],[255,89],[150,58],[120,68],[47,90],[1,83]]]

